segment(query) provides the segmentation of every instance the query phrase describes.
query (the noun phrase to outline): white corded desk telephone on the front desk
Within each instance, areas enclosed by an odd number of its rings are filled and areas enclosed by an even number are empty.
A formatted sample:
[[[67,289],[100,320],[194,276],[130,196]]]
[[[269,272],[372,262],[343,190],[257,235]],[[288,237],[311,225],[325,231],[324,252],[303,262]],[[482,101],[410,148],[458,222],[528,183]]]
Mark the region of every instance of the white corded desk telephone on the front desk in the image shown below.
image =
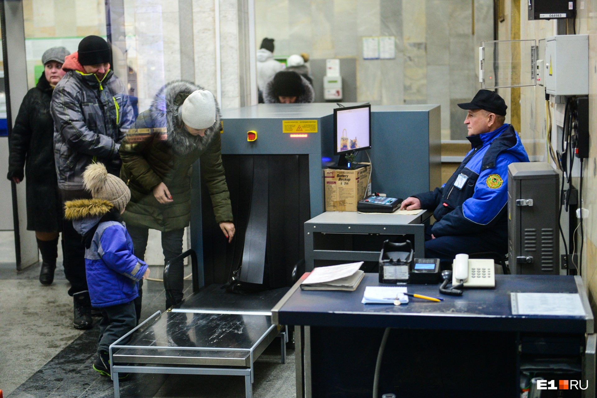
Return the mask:
[[[463,287],[496,287],[496,272],[492,259],[469,259],[468,254],[456,254],[452,264],[452,285]]]

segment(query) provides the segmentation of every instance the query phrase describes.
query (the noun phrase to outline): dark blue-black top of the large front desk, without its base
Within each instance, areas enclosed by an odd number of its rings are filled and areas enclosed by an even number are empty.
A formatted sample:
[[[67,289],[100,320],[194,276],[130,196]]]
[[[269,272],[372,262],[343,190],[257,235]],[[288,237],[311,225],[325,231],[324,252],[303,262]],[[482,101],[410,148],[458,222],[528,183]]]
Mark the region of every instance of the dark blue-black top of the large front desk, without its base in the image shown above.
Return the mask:
[[[303,275],[301,278],[306,278]],[[593,331],[593,315],[580,277],[496,275],[495,289],[465,289],[463,296],[443,296],[438,285],[407,285],[408,293],[445,298],[441,303],[409,297],[409,303],[362,304],[365,287],[380,286],[367,273],[355,291],[300,290],[300,281],[273,309],[282,325],[459,329],[519,332]],[[392,285],[383,285],[392,286]],[[580,291],[579,291],[580,290]],[[512,315],[510,293],[580,293],[586,316]]]

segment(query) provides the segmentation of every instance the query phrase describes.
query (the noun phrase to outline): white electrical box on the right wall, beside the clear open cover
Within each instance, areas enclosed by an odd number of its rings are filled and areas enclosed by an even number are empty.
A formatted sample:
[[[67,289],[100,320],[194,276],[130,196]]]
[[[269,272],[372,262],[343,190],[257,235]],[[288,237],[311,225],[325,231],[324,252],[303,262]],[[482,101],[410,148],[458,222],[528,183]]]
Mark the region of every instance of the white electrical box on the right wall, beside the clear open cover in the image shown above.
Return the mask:
[[[589,35],[559,35],[545,39],[541,80],[547,94],[589,94]]]

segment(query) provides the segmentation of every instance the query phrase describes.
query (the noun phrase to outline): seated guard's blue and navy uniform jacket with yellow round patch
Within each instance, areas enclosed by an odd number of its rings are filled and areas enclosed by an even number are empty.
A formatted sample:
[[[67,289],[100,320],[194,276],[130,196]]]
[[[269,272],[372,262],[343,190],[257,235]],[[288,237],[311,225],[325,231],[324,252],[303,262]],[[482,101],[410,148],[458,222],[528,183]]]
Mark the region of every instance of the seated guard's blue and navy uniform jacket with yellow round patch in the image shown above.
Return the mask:
[[[512,125],[469,136],[472,149],[448,182],[414,195],[421,209],[434,210],[436,237],[489,232],[507,239],[508,165],[529,161]]]

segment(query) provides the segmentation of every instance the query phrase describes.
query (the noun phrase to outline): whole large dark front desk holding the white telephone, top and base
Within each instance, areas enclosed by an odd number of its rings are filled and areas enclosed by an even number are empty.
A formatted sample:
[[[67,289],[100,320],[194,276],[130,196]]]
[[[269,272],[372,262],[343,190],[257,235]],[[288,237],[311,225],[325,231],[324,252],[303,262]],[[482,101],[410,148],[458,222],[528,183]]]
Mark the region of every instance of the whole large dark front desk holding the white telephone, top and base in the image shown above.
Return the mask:
[[[593,314],[578,276],[496,275],[493,290],[466,290],[461,297],[442,296],[445,298],[442,303],[410,298],[410,303],[404,306],[361,304],[365,287],[379,285],[377,274],[366,274],[354,292],[301,291],[299,284],[300,281],[272,310],[274,323],[300,325],[295,328],[297,397],[327,397],[338,393],[343,397],[370,397],[371,355],[377,355],[383,328],[396,328],[390,334],[395,344],[392,349],[389,340],[383,363],[388,369],[386,378],[397,379],[392,380],[393,384],[388,381],[386,390],[380,388],[380,394],[399,392],[409,397],[444,397],[447,390],[456,388],[452,391],[458,391],[464,383],[470,391],[463,392],[463,396],[515,397],[519,394],[521,360],[530,357],[525,354],[524,346],[529,337],[541,341],[581,339],[583,380],[589,380],[590,387],[583,392],[586,397],[595,397]],[[408,289],[438,295],[436,285],[408,285]],[[586,316],[512,315],[510,292],[579,293]],[[458,341],[458,336],[464,340]],[[442,339],[445,339],[443,343]],[[435,366],[426,356],[442,350],[445,352],[437,354],[440,359]],[[401,356],[408,357],[396,359]],[[393,362],[402,363],[402,368],[396,368]],[[424,394],[417,395],[411,390],[387,391],[397,388],[396,385],[408,390],[408,377],[416,378],[408,374],[408,370],[421,370],[421,366],[430,376],[426,385],[417,384],[417,391],[425,390]],[[485,371],[493,374],[485,374]],[[328,374],[322,374],[326,372]],[[486,380],[473,380],[473,376]],[[472,392],[476,384],[484,385],[482,382],[488,380],[501,380],[501,384],[485,383],[491,388]],[[434,383],[445,390],[437,385],[435,387],[441,391],[433,390]]]

